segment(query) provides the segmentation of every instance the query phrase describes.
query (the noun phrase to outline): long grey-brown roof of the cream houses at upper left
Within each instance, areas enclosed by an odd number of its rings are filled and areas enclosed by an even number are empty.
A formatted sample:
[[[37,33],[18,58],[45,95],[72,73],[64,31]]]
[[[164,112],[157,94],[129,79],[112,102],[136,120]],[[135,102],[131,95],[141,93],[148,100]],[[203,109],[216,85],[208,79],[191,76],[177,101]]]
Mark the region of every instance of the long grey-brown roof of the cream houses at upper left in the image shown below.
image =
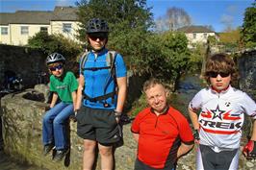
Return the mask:
[[[77,8],[56,7],[50,11],[0,12],[0,25],[8,24],[50,24],[50,21],[76,21]]]

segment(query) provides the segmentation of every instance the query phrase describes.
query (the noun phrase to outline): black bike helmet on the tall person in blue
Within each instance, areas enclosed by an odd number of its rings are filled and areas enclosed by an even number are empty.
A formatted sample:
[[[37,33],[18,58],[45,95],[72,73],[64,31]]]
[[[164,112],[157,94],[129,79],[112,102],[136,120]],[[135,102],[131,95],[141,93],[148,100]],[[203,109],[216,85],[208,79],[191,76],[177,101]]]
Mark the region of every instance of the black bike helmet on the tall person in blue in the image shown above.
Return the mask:
[[[106,33],[110,32],[108,23],[100,18],[92,18],[87,25],[87,34]]]

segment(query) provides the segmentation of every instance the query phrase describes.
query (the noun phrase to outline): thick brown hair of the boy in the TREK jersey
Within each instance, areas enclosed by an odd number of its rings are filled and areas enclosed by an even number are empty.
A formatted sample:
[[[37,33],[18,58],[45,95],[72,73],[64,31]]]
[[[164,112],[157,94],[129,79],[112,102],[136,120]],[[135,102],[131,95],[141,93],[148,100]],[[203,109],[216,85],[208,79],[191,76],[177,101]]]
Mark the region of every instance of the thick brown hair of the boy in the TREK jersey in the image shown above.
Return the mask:
[[[225,72],[231,74],[231,82],[237,81],[239,78],[238,70],[233,59],[226,54],[215,54],[206,61],[204,78],[209,83],[209,72]]]

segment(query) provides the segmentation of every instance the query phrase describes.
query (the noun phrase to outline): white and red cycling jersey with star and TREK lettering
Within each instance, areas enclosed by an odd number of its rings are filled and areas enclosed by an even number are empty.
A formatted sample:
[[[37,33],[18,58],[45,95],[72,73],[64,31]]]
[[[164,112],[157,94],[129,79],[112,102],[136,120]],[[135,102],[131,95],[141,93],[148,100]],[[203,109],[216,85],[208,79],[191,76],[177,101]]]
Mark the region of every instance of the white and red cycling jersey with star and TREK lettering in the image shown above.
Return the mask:
[[[212,87],[200,90],[193,97],[190,108],[200,109],[200,144],[216,152],[240,147],[244,113],[256,119],[255,102],[231,85],[219,93]]]

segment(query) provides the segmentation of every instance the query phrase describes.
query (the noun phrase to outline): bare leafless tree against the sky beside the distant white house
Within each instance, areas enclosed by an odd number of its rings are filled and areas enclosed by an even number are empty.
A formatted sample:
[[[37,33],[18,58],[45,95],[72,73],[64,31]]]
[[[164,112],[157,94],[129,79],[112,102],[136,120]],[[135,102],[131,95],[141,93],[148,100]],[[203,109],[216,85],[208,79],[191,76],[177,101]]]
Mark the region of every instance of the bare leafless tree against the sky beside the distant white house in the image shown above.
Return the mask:
[[[183,9],[172,7],[167,9],[166,15],[156,21],[158,31],[174,31],[178,28],[191,25],[191,17]]]

